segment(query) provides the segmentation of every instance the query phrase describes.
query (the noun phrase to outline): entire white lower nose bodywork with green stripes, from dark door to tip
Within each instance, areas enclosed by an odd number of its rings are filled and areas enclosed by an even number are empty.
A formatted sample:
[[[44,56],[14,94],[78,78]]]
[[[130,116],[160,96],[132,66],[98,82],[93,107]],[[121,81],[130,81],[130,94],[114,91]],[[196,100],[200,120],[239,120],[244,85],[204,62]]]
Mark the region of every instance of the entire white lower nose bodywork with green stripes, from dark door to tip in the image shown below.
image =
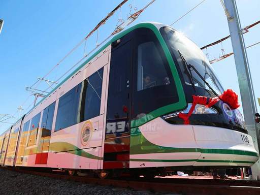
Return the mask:
[[[194,152],[131,154],[130,168],[164,166],[252,166],[258,156],[251,136],[231,129],[169,124],[160,117],[139,127],[142,135],[152,144],[170,148],[197,148]],[[242,140],[246,136],[248,142]],[[160,139],[158,139],[158,137]],[[229,152],[230,151],[230,152]],[[144,151],[145,152],[145,151]],[[140,159],[140,161],[138,161]],[[145,163],[144,163],[144,159]],[[164,159],[172,161],[167,162]],[[187,159],[188,161],[185,161]],[[193,160],[191,160],[193,159]],[[156,161],[157,160],[157,161]],[[161,160],[161,161],[160,161]],[[174,161],[177,160],[177,161]],[[181,161],[178,161],[181,160]]]

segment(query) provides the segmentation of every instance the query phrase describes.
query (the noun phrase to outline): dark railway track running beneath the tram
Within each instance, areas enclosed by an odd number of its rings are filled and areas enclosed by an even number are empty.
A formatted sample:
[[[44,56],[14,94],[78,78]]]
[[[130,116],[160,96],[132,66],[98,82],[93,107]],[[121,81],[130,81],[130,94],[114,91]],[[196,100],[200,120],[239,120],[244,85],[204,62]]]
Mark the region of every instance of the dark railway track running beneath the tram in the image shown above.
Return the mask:
[[[84,176],[68,176],[65,174],[30,171],[22,169],[2,168],[20,173],[39,175],[56,179],[66,179],[82,183],[99,184],[135,190],[149,190],[156,192],[171,192],[185,195],[196,194],[260,194],[260,181],[246,180],[212,180],[212,179],[172,179],[172,178],[120,178],[99,179]]]

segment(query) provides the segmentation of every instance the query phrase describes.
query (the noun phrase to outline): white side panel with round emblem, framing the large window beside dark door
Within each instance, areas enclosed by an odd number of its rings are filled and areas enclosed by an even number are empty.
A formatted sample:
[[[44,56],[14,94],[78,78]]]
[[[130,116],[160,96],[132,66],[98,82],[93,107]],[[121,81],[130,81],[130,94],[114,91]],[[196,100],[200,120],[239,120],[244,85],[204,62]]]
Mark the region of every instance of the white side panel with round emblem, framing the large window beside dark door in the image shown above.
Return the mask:
[[[95,57],[92,61],[88,62],[77,75],[65,82],[57,91],[58,97],[65,94],[80,82],[91,76],[93,73],[104,67],[103,72],[103,86],[101,102],[105,101],[107,69],[109,61],[109,48],[101,52],[102,55]],[[56,107],[58,101],[56,103]],[[104,104],[101,104],[100,115],[87,121],[69,126],[54,132],[55,124],[53,124],[50,145],[53,144],[71,144],[75,148],[81,150],[82,155],[72,154],[70,151],[49,151],[48,167],[53,168],[67,168],[67,169],[99,169],[101,156],[101,147],[103,143],[103,128],[104,128]],[[55,109],[54,118],[56,118],[57,110]],[[54,120],[55,121],[55,120]],[[86,123],[92,126],[90,140],[86,145],[81,142],[82,128]],[[77,152],[75,152],[77,153]],[[85,156],[84,156],[85,154]],[[94,158],[88,157],[94,156]]]

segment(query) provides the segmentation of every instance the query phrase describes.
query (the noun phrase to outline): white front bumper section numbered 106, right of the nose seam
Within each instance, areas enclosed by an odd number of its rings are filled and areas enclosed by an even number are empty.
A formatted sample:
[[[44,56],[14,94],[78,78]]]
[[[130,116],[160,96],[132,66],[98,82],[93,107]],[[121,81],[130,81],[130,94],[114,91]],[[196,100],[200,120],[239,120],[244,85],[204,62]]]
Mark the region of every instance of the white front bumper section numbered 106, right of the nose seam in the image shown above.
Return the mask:
[[[199,148],[230,149],[257,153],[253,145],[252,137],[247,134],[213,126],[192,125],[192,128]],[[243,140],[243,136],[247,139]],[[256,161],[257,158],[257,156],[242,155],[239,153],[202,153],[194,166],[207,166],[209,163],[207,160],[218,161],[216,163],[211,162],[210,164],[212,166],[219,166],[221,164],[228,166],[251,166],[251,162]],[[221,163],[221,161],[223,163]],[[244,163],[238,163],[238,161],[244,161]]]

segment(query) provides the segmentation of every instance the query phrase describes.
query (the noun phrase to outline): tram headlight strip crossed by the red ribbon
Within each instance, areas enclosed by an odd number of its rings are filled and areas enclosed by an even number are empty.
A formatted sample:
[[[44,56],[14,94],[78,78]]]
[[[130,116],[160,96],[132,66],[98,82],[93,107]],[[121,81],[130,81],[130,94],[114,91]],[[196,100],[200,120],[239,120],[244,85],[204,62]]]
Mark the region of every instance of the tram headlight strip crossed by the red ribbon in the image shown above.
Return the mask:
[[[192,104],[188,104],[188,107],[185,110],[180,111],[181,113],[187,114],[189,109],[191,108]],[[180,112],[174,112],[168,115],[165,115],[164,118],[171,118],[178,116]],[[205,105],[197,104],[195,109],[193,110],[192,114],[218,114],[218,111],[211,107],[206,107]]]

